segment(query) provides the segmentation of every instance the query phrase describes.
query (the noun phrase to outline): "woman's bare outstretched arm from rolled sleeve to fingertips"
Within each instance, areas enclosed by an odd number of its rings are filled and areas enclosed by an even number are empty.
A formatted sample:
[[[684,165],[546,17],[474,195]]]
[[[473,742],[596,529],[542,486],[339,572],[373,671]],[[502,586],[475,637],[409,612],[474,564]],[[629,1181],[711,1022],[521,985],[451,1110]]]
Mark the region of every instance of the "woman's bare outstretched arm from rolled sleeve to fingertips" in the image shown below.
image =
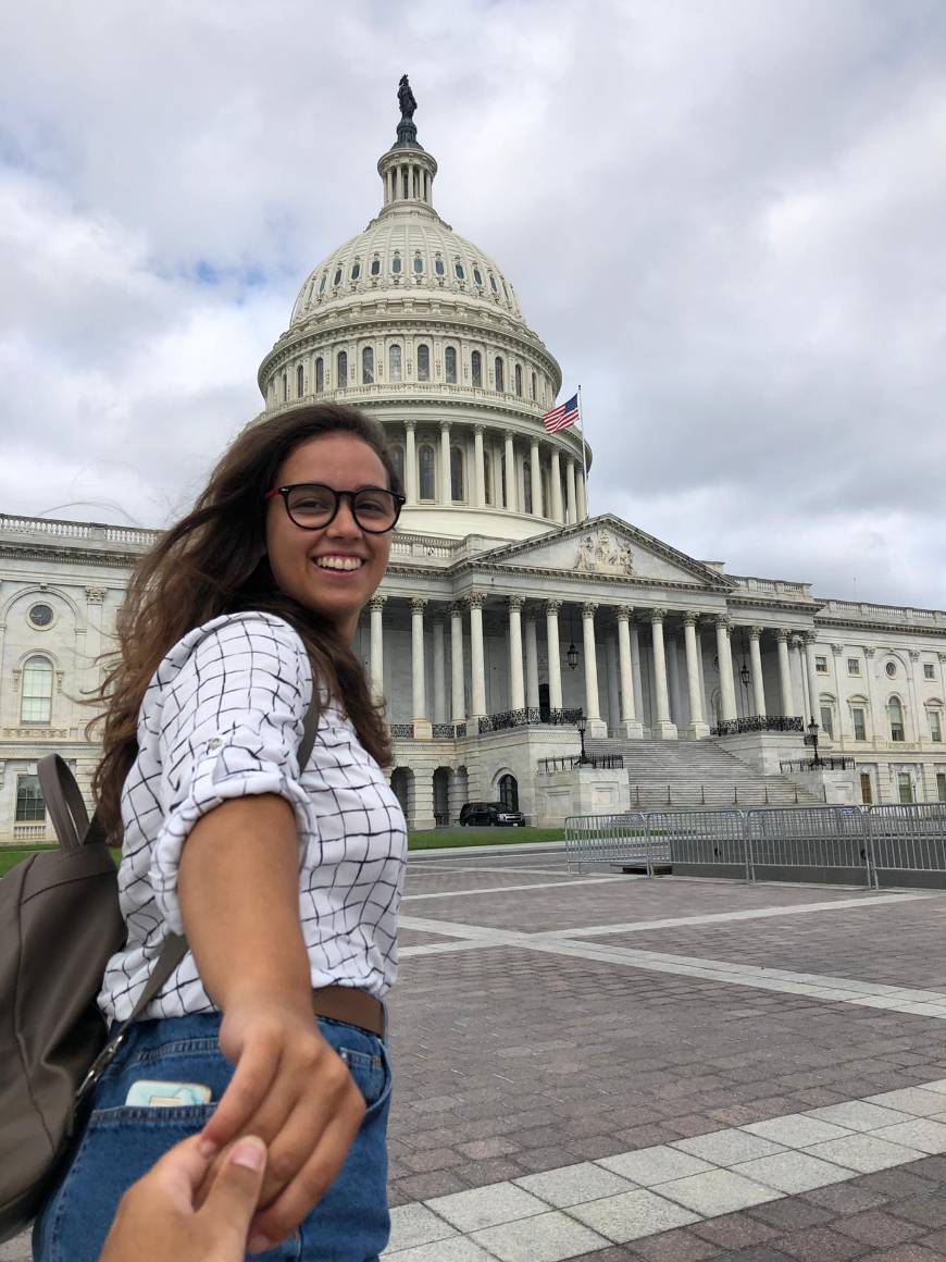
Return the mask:
[[[269,1150],[257,1252],[294,1230],[324,1195],[365,1102],[313,1016],[289,803],[237,798],[202,817],[178,880],[188,944],[223,1013],[221,1050],[236,1065],[202,1138],[219,1150],[254,1133]]]

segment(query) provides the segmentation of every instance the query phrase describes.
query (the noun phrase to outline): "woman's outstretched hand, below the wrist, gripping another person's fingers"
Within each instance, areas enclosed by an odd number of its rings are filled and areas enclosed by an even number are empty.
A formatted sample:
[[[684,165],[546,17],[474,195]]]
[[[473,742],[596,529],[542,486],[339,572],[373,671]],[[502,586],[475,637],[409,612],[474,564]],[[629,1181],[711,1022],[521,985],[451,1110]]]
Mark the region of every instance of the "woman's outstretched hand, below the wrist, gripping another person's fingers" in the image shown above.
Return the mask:
[[[250,1252],[285,1239],[324,1196],[365,1117],[348,1068],[322,1037],[312,1008],[241,996],[227,1006],[219,1045],[236,1065],[201,1136],[214,1153],[251,1132],[269,1161]]]

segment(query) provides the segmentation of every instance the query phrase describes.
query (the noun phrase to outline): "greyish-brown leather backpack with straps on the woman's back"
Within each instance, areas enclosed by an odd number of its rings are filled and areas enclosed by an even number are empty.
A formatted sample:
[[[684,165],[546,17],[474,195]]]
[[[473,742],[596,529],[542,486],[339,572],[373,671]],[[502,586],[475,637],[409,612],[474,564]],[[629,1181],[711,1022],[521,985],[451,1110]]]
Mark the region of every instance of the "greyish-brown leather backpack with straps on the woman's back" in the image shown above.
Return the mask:
[[[300,770],[317,723],[318,689]],[[66,762],[53,753],[38,771],[59,849],[32,854],[0,881],[0,1243],[43,1208],[83,1102],[187,954],[185,939],[169,934],[131,1016],[108,1039],[96,1000],[125,941],[119,872]]]

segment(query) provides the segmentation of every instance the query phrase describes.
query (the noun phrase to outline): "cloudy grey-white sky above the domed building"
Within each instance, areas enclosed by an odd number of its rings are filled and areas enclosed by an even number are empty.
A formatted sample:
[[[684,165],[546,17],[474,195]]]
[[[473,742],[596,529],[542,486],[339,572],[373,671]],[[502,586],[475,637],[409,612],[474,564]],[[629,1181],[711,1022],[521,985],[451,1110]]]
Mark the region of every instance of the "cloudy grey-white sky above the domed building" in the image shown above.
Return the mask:
[[[161,526],[381,204],[580,382],[593,514],[946,607],[941,0],[32,0],[0,27],[0,512]]]

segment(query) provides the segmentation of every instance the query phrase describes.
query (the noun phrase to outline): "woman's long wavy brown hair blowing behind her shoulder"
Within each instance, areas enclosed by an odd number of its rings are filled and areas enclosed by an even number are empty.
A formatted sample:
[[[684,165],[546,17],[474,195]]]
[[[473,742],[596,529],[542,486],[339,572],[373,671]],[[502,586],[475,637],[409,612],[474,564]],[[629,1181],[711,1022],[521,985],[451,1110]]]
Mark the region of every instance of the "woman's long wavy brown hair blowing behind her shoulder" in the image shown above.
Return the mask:
[[[382,766],[391,742],[382,707],[372,700],[361,661],[336,628],[281,592],[265,555],[265,492],[283,462],[303,443],[325,434],[359,438],[377,453],[388,486],[401,485],[383,430],[363,413],[339,404],[291,408],[250,425],[219,461],[193,510],[172,526],[139,562],[116,620],[117,661],[93,704],[105,712],[103,757],[92,781],[108,837],[121,834],[121,790],[137,752],[137,716],[145,690],[168,651],[188,631],[222,613],[260,610],[285,618],[299,632],[313,679],[344,697],[365,748]]]

